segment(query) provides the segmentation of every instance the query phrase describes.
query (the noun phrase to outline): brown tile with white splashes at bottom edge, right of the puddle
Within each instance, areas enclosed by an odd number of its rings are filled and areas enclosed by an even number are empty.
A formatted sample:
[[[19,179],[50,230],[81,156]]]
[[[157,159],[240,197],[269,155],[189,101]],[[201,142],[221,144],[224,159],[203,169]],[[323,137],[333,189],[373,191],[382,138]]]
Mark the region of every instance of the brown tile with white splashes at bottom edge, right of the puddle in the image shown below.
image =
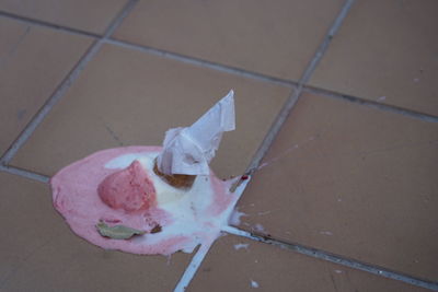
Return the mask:
[[[426,291],[279,247],[227,235],[207,255],[187,291]]]

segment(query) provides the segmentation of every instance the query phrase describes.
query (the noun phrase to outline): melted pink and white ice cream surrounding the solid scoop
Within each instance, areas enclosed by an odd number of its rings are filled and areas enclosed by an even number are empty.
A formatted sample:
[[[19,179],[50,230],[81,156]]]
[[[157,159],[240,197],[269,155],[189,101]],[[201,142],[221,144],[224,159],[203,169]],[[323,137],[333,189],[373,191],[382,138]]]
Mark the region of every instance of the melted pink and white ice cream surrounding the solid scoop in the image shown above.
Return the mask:
[[[229,192],[231,182],[220,180],[211,171],[209,175],[198,175],[191,189],[168,185],[152,171],[160,151],[158,147],[104,150],[62,168],[50,180],[55,208],[74,233],[103,248],[135,254],[192,253],[197,245],[219,236],[237,195]],[[138,210],[114,209],[101,199],[99,186],[135,161],[152,182],[157,201]],[[130,240],[103,237],[95,227],[100,221],[146,234]],[[161,232],[150,233],[157,225]]]

